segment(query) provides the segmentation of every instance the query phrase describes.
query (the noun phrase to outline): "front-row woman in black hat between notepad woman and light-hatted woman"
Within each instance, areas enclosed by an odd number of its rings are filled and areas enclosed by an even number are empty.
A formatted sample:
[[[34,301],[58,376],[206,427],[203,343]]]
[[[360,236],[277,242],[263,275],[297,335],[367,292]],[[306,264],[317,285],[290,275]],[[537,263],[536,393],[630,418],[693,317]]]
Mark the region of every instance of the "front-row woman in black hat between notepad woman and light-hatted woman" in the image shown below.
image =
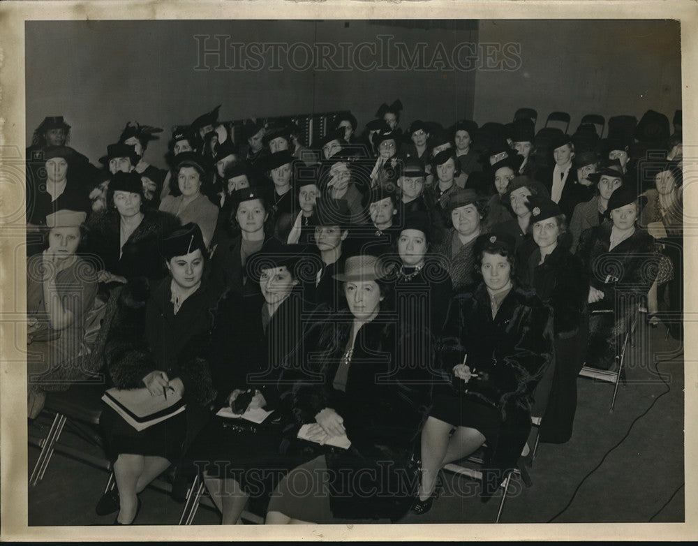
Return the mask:
[[[272,237],[248,262],[260,293],[229,292],[218,302],[207,359],[218,390],[216,408],[234,406],[237,397],[252,389],[249,408],[276,410],[272,420],[290,420],[281,395],[300,372],[279,364],[289,365],[285,359],[302,336],[299,270],[308,259],[305,246],[283,245]],[[204,480],[223,524],[238,523],[250,495],[265,501],[279,472],[303,462],[280,452],[282,429],[230,431],[214,418],[197,437],[189,458],[204,464]]]

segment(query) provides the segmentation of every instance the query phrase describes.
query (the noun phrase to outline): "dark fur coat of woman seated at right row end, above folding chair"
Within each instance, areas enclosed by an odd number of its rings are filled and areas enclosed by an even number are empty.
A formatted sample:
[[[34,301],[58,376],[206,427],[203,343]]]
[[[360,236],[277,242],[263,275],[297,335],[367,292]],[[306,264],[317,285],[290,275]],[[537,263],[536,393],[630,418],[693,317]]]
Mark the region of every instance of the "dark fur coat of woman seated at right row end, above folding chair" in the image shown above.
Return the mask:
[[[611,228],[613,223],[607,222],[586,230],[577,247],[591,286],[604,293],[604,299],[591,305],[590,311],[615,310],[591,316],[586,362],[601,369],[613,366],[621,338],[630,327],[639,298],[652,286],[660,261],[654,237],[641,228],[609,250]]]

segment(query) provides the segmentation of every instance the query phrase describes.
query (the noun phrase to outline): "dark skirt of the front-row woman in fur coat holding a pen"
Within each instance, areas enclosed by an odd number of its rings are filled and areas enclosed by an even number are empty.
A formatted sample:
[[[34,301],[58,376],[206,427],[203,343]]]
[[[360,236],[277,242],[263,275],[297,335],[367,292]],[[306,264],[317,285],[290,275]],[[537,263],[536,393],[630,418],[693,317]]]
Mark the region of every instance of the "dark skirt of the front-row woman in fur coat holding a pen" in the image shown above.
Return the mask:
[[[497,408],[468,395],[440,394],[434,397],[429,416],[454,427],[477,430],[491,448],[496,445],[502,427],[502,416]]]

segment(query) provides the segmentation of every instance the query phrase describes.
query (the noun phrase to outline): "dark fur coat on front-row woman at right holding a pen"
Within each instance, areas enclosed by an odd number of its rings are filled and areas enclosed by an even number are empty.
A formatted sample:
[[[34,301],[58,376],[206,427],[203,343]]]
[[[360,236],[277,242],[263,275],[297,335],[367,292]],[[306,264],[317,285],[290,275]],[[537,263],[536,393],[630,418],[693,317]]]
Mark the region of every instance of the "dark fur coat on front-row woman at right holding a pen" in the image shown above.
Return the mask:
[[[468,382],[468,394],[460,394],[462,381],[454,380],[453,367],[465,355],[481,377]],[[505,434],[486,468],[503,471],[516,465],[530,431],[533,392],[552,357],[552,313],[532,290],[512,288],[495,318],[484,283],[451,301],[437,346],[441,392],[472,396],[500,411]]]

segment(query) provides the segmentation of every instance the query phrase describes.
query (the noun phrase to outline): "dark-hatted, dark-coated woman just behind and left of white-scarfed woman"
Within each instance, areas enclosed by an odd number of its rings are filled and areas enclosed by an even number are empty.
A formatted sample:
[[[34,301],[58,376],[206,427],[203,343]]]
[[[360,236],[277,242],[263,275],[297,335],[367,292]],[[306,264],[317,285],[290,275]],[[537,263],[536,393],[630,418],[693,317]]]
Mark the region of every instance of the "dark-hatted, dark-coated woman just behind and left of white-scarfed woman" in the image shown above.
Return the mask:
[[[296,217],[297,205],[293,191],[297,159],[288,150],[275,152],[265,161],[267,177],[274,184],[274,195],[269,201],[271,235],[280,241],[288,239]]]

